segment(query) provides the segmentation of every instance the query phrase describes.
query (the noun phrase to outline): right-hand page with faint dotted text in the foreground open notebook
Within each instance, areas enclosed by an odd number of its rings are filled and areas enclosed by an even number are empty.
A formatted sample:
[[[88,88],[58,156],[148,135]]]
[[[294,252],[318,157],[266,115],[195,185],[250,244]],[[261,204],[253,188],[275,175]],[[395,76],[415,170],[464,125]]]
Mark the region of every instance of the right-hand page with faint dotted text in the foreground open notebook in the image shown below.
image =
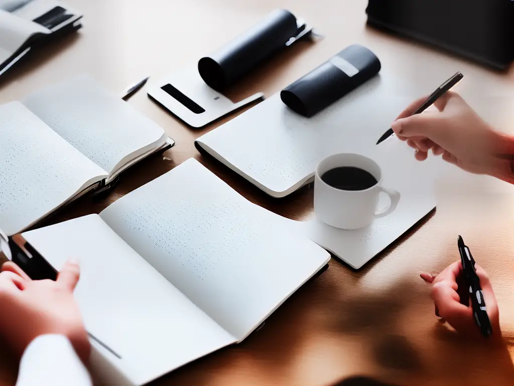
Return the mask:
[[[194,159],[100,216],[238,340],[329,259],[288,233],[290,220],[250,203]]]

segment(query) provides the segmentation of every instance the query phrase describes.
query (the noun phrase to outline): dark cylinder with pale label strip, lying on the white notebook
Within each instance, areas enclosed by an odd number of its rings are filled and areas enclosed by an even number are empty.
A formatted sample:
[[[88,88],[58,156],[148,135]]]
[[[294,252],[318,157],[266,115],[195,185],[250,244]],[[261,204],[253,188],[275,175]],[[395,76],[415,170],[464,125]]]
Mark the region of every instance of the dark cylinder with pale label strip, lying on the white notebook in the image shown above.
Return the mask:
[[[373,78],[380,68],[371,50],[352,45],[287,86],[280,98],[292,111],[311,117]]]

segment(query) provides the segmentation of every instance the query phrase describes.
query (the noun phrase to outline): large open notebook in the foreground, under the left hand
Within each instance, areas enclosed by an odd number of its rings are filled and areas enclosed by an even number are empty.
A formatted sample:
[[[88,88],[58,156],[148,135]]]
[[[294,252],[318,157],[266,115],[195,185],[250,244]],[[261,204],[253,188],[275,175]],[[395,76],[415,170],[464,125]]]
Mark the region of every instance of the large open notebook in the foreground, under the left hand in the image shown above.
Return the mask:
[[[290,222],[190,159],[100,215],[22,236],[56,270],[80,260],[95,373],[141,385],[241,342],[327,265]]]

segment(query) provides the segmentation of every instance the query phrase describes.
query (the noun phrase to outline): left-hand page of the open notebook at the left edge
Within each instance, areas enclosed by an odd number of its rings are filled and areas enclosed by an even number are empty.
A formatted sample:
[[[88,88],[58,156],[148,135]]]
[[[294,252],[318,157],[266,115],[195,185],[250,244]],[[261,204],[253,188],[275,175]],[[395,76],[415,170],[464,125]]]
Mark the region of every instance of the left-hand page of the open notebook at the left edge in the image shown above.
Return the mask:
[[[0,106],[0,154],[0,228],[8,235],[107,175],[20,102]]]

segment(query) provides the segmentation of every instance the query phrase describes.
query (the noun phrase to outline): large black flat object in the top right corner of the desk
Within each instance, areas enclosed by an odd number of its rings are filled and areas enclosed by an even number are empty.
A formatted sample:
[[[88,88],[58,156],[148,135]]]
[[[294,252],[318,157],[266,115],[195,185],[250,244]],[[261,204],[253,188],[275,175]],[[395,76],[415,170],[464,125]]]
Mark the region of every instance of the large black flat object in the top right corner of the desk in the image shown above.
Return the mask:
[[[368,24],[495,69],[514,60],[510,0],[369,0]]]

